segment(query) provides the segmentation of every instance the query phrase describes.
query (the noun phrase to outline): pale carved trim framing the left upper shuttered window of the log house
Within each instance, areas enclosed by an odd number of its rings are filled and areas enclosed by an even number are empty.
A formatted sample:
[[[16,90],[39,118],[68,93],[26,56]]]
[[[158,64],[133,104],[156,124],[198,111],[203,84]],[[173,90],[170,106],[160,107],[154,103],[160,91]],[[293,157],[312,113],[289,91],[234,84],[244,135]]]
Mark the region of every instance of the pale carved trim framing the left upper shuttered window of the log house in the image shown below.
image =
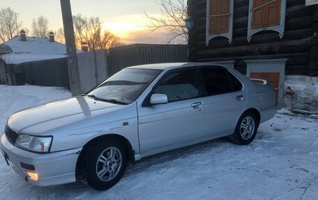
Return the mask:
[[[234,13],[234,0],[229,0],[229,13],[224,15],[229,15],[229,32],[227,33],[218,33],[210,35],[210,0],[206,0],[206,46],[209,45],[210,40],[216,37],[225,37],[229,39],[229,43],[232,43],[233,37],[233,13]],[[221,15],[220,15],[221,16]]]

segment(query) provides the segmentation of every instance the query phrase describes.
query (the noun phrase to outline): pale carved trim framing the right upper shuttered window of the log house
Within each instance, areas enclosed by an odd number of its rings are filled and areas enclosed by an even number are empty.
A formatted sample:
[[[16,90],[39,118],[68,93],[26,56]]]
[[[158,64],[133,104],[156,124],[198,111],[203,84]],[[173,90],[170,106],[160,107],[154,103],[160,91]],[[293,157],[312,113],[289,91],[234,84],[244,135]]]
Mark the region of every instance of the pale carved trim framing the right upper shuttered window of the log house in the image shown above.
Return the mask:
[[[269,3],[272,3],[274,1],[277,1],[277,0],[269,1],[268,3],[266,3],[266,5],[262,5],[262,6],[267,6]],[[285,32],[286,0],[282,0],[281,3],[282,4],[280,5],[280,24],[278,26],[268,26],[268,27],[262,27],[258,29],[252,29],[253,11],[258,9],[261,6],[257,8],[253,8],[253,0],[250,0],[249,7],[248,7],[248,42],[249,43],[252,36],[255,33],[258,33],[260,31],[276,31],[279,33],[280,39],[282,39]]]

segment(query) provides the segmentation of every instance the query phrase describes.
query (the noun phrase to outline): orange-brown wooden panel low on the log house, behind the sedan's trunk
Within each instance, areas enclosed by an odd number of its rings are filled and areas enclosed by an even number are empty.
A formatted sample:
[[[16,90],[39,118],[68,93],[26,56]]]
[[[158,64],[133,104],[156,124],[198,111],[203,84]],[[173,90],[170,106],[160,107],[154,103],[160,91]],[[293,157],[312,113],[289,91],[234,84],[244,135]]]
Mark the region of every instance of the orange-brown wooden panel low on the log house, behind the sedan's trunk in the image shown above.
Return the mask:
[[[278,92],[280,88],[280,73],[279,72],[251,72],[250,78],[266,79],[275,89],[275,102],[278,105]]]

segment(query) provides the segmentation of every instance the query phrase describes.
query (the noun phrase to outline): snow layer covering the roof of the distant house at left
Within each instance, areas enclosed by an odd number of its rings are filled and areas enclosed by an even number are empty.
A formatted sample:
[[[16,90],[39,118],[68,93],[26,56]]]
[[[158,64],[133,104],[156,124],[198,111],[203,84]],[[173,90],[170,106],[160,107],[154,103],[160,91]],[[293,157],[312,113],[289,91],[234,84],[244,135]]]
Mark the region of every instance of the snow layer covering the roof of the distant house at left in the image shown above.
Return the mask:
[[[12,49],[12,53],[1,56],[7,64],[20,64],[66,57],[65,45],[58,42],[50,42],[47,38],[27,37],[27,41],[21,41],[20,36],[16,36],[3,43],[3,46]],[[77,52],[82,51],[77,50]]]

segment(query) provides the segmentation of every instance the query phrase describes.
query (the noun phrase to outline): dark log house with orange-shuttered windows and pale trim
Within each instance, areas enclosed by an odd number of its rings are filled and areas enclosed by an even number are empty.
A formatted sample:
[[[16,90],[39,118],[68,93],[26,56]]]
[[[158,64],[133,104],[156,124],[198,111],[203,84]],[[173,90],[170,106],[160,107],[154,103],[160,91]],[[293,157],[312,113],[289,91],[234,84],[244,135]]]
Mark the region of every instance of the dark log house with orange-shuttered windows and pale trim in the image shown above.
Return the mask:
[[[215,61],[271,81],[318,76],[317,0],[188,0],[190,61]],[[307,5],[306,5],[307,4]],[[314,5],[308,5],[314,4]]]

